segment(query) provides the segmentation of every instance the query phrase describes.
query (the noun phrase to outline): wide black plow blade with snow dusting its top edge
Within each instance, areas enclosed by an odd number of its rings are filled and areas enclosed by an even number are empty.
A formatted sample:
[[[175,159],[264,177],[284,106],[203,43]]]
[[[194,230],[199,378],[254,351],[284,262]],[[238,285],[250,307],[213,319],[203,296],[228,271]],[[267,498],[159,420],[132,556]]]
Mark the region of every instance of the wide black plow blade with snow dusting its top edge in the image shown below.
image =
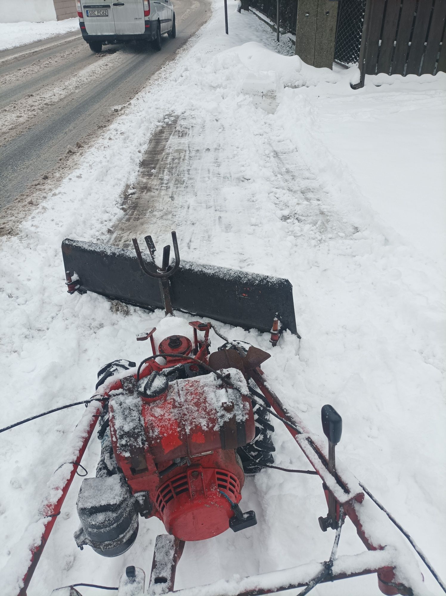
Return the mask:
[[[62,253],[65,271],[73,282],[79,277],[80,290],[143,308],[163,308],[159,281],[144,275],[133,250],[66,239]],[[282,328],[298,335],[293,287],[284,278],[181,260],[169,284],[172,307],[178,311],[268,332],[278,313]]]

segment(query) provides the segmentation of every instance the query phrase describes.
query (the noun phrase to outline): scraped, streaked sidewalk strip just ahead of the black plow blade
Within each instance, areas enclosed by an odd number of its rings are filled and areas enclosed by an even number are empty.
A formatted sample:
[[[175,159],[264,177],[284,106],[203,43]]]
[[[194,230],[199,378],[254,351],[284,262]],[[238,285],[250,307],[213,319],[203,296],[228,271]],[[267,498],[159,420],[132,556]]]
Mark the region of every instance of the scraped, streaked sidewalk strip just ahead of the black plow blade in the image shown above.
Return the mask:
[[[259,122],[259,130],[271,127],[262,111],[258,116],[264,120]],[[123,201],[125,216],[110,230],[109,242],[131,247],[132,236],[151,234],[154,225],[159,235],[169,235],[172,229],[178,232],[180,225],[182,243],[190,249],[199,226],[204,245],[215,235],[221,241],[230,237],[239,262],[252,264],[243,248],[236,248],[236,237],[246,221],[244,214],[261,209],[258,188],[254,176],[243,171],[231,136],[224,123],[213,117],[166,117],[145,151],[138,180]],[[271,181],[268,201],[274,225],[278,219],[288,235],[306,234],[315,243],[357,232],[335,212],[329,191],[290,141],[280,139],[264,146],[262,135],[258,141],[255,151],[263,162],[262,173],[266,171]],[[251,187],[244,193],[243,205],[228,198],[240,181]],[[233,204],[232,209],[228,203]],[[183,225],[186,221],[188,225]]]

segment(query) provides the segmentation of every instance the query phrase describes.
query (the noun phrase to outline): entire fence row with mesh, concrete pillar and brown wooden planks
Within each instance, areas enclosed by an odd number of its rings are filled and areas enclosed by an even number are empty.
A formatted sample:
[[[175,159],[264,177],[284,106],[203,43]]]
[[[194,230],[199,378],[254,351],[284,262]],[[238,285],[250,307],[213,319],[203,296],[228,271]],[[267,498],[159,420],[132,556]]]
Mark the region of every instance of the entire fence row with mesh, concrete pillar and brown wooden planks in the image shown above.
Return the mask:
[[[275,20],[275,0],[246,0]],[[365,75],[446,72],[446,0],[281,0],[280,23],[314,66],[358,64]],[[297,17],[297,18],[296,18]]]

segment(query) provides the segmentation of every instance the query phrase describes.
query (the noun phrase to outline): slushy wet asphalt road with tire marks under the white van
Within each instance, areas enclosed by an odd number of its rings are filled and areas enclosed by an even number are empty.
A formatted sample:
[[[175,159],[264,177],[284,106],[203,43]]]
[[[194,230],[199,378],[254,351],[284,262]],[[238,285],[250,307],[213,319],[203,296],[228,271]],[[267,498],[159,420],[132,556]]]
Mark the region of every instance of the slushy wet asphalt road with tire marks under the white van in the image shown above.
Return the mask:
[[[0,52],[0,209],[116,117],[210,15],[207,0],[173,4],[176,38],[164,35],[160,52],[128,44],[97,55],[77,32]]]

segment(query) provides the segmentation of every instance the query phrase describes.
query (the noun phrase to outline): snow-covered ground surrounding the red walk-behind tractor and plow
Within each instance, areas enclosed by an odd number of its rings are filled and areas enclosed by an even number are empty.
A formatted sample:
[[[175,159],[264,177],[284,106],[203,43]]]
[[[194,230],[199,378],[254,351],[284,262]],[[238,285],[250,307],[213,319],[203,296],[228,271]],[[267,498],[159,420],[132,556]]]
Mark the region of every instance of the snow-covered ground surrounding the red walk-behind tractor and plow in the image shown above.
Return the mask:
[[[156,172],[164,182],[147,201],[147,228],[136,232],[162,244],[176,229],[184,259],[290,279],[302,340],[284,334],[265,372],[315,432],[324,403],[342,414],[337,459],[445,576],[445,271],[442,238],[434,232],[445,225],[438,114],[444,114],[446,76],[381,86],[368,79],[362,91],[352,91],[357,70],[317,70],[275,54],[274,33],[253,14],[230,7],[226,36],[220,4],[214,2],[199,35],[151,79],[20,234],[2,238],[1,426],[88,398],[105,362],[147,355],[136,333],[166,327],[161,312],[116,309],[94,294],[68,296],[60,243],[107,240],[123,217],[125,189],[137,188],[151,135],[178,117]],[[181,159],[173,170],[175,152]],[[266,335],[220,327],[270,350]],[[220,340],[212,340],[216,349]],[[0,435],[4,582],[19,573],[14,544],[38,519],[46,482],[63,463],[61,445],[82,409]],[[277,464],[304,467],[289,434],[279,423],[275,428]],[[98,451],[92,440],[83,458],[91,475]],[[150,570],[154,539],[163,531],[156,519],[141,520],[135,545],[118,560],[78,550],[72,535],[79,486],[76,477],[29,596],[75,582],[117,585],[129,564]],[[319,529],[326,505],[314,477],[264,470],[246,480],[242,506],[256,511],[258,525],[187,544],[176,588],[329,557],[333,534]],[[385,521],[384,528],[399,544],[396,530]],[[361,551],[347,522],[340,552]],[[439,594],[422,571],[426,594]],[[13,596],[14,589],[4,593]],[[320,596],[377,593],[376,576],[314,589]]]

